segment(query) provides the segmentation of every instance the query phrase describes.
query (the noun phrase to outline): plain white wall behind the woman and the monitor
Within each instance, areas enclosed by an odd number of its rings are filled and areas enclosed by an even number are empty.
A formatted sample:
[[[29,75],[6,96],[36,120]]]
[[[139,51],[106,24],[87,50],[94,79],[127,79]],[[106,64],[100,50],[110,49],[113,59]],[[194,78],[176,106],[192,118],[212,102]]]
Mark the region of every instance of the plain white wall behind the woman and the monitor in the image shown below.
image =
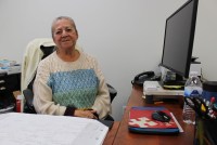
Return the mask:
[[[72,16],[78,42],[95,56],[118,95],[113,116],[122,118],[131,92],[130,81],[143,70],[158,71],[166,18],[187,0],[1,0],[0,58],[22,62],[27,43],[50,37],[50,25],[60,15]],[[217,1],[200,0],[193,55],[204,77],[217,80]]]

